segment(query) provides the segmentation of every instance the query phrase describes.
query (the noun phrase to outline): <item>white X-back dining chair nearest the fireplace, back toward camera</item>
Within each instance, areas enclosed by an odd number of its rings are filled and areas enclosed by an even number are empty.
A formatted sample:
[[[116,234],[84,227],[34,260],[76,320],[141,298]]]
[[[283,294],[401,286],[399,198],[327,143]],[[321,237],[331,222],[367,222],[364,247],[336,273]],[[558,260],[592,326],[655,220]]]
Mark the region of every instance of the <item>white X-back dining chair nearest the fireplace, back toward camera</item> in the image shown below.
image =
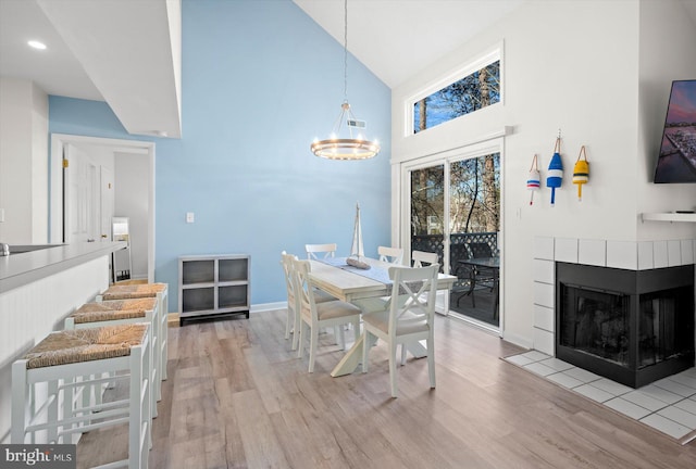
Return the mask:
[[[391,295],[384,309],[362,315],[362,371],[368,372],[369,352],[374,339],[382,339],[389,348],[389,383],[397,397],[396,348],[401,345],[401,363],[406,344],[425,340],[431,388],[435,388],[434,316],[437,270],[439,264],[427,267],[389,267]]]

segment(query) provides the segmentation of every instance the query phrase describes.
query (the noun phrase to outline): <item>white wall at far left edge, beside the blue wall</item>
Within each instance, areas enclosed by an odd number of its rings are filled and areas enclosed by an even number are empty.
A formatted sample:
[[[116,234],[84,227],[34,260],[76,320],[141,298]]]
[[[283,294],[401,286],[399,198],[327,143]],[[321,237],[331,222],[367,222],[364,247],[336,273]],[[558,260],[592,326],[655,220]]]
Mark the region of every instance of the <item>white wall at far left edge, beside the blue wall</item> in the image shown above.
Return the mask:
[[[48,96],[0,77],[0,241],[48,241]]]

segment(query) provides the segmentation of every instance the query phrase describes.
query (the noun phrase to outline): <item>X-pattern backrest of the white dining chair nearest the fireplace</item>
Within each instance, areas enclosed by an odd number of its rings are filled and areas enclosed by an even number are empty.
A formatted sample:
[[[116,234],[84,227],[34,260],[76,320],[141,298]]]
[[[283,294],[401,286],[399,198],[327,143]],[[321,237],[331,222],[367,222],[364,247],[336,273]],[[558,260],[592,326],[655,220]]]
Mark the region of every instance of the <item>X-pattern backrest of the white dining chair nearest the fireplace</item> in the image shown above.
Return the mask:
[[[408,333],[423,324],[433,327],[438,270],[437,263],[427,267],[389,267],[393,284],[388,331],[391,338],[396,337],[397,329]]]

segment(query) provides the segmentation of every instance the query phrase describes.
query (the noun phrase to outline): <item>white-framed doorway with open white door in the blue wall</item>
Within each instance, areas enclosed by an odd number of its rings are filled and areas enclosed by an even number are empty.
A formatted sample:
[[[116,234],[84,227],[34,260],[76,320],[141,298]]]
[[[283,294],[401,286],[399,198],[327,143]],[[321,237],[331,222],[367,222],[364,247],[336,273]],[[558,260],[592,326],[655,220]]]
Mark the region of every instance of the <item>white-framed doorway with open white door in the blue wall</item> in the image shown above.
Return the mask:
[[[101,206],[102,202],[109,204],[108,198],[109,193],[101,194],[104,188],[108,189],[109,185],[114,187],[117,183],[117,174],[110,174],[110,168],[108,165],[103,170],[99,168],[98,162],[88,163],[87,166],[91,166],[92,169],[88,173],[94,173],[91,177],[87,177],[90,182],[86,182],[86,187],[92,187],[91,190],[87,190],[84,187],[82,189],[75,189],[73,183],[70,180],[69,176],[65,176],[64,179],[64,170],[63,170],[63,157],[66,154],[74,153],[75,149],[98,149],[101,152],[112,154],[114,160],[117,159],[117,164],[120,167],[127,168],[136,164],[141,165],[145,170],[136,170],[136,173],[145,173],[146,176],[144,178],[145,185],[147,188],[140,188],[141,198],[147,199],[147,201],[141,201],[141,205],[147,205],[147,214],[144,215],[144,221],[141,225],[141,233],[142,233],[142,255],[146,261],[147,270],[147,280],[149,282],[154,281],[154,143],[147,141],[137,141],[137,140],[120,140],[120,139],[107,139],[107,138],[97,138],[97,137],[84,137],[84,136],[72,136],[72,135],[63,135],[63,134],[53,134],[51,135],[51,155],[50,155],[50,212],[49,212],[49,240],[51,243],[63,243],[63,242],[82,242],[94,240],[95,242],[107,240],[111,238],[110,227],[111,227],[111,218],[114,213],[110,213],[107,210],[107,214],[101,216],[104,213],[103,207]],[[69,163],[70,165],[70,163]],[[133,172],[133,170],[132,170]],[[85,179],[84,177],[79,177],[80,179]],[[71,192],[71,188],[73,188],[73,192]],[[76,192],[75,192],[76,190]],[[89,193],[90,195],[87,195]],[[113,192],[112,192],[113,193]],[[117,193],[117,191],[116,191]],[[99,194],[99,195],[97,195]],[[114,195],[117,198],[119,195]],[[76,200],[70,201],[69,198],[77,198]],[[79,198],[87,198],[87,200],[82,201]],[[98,199],[97,199],[98,198]],[[67,203],[67,205],[66,205]],[[115,202],[119,205],[119,202]],[[71,211],[71,208],[65,208],[65,206],[77,207],[77,212]],[[112,205],[113,206],[113,205]],[[91,208],[89,208],[91,207]],[[95,231],[95,234],[86,234],[84,238],[71,238],[66,236],[66,231],[71,228],[71,225],[79,226],[79,223],[72,221],[79,217],[88,218],[85,210],[91,211],[92,219],[97,221],[91,221],[91,229]],[[96,216],[95,213],[99,213],[99,216]],[[115,214],[119,215],[119,214]],[[109,220],[105,220],[105,217]],[[87,225],[88,221],[84,221],[84,225]],[[105,228],[109,227],[109,228]],[[107,230],[108,231],[104,231]],[[103,232],[102,232],[103,231]]]

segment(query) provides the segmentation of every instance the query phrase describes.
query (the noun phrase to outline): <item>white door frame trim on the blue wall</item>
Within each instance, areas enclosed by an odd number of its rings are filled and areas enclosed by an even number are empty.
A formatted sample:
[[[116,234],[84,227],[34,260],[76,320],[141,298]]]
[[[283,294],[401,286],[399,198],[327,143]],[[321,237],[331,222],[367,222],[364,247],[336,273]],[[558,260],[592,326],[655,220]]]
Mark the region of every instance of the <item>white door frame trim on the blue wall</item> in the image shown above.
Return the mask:
[[[51,134],[49,156],[49,242],[63,242],[63,148],[66,144],[108,147],[114,152],[148,157],[148,282],[154,282],[154,142]]]

